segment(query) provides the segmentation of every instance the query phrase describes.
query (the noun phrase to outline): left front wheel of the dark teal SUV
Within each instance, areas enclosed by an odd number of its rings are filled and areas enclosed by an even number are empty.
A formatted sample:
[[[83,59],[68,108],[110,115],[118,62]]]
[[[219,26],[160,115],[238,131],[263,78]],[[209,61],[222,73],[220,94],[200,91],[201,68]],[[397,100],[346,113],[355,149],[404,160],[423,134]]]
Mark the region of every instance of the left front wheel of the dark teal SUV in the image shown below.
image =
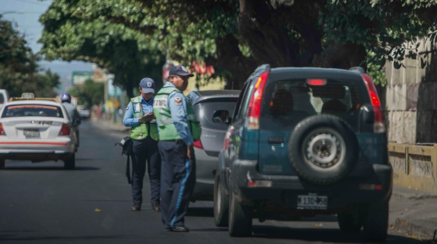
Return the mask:
[[[229,197],[223,191],[219,171],[215,173],[214,182],[214,222],[217,227],[229,226]]]

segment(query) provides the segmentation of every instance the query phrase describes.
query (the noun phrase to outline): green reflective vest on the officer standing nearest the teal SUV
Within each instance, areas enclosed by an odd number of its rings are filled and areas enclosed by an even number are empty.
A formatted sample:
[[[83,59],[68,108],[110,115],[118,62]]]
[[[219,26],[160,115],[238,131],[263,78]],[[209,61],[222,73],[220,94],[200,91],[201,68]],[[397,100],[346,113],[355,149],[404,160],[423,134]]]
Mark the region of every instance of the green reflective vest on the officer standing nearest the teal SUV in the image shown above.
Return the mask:
[[[180,139],[180,136],[176,130],[176,126],[171,118],[170,107],[168,106],[168,97],[173,92],[181,93],[177,88],[167,86],[162,88],[153,100],[153,112],[157,117],[157,124],[160,128],[160,140],[163,141]],[[197,121],[196,114],[194,113],[194,109],[189,101],[186,101],[186,119],[190,127],[193,140],[199,140],[202,129],[200,128],[199,121]]]

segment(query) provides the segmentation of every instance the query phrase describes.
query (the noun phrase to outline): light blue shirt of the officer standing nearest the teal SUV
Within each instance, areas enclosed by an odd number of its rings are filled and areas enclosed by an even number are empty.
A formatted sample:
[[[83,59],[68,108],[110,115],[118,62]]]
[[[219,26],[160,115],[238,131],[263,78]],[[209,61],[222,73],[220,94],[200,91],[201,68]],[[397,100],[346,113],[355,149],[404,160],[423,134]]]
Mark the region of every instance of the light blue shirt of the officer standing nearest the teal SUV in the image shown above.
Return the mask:
[[[164,87],[174,86],[171,82],[167,82]],[[176,97],[179,97],[182,104],[177,105],[174,101]],[[186,119],[186,101],[182,93],[171,93],[168,96],[168,107],[170,108],[171,118],[173,119],[173,124],[176,127],[177,134],[183,140],[185,145],[193,145],[193,136],[191,135],[190,127],[188,126],[188,120]],[[159,127],[158,127],[159,130]]]

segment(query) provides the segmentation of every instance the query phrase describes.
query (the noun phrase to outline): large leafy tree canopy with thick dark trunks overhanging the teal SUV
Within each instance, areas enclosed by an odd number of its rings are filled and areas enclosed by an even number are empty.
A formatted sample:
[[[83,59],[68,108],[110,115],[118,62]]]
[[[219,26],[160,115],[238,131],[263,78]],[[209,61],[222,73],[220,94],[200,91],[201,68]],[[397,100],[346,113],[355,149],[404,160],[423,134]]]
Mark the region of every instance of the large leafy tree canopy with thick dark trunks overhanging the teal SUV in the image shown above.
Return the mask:
[[[437,0],[54,0],[40,41],[46,58],[96,62],[128,92],[142,76],[160,80],[165,58],[212,65],[238,89],[265,63],[383,77],[386,60],[418,55],[405,43],[435,42],[436,12]]]

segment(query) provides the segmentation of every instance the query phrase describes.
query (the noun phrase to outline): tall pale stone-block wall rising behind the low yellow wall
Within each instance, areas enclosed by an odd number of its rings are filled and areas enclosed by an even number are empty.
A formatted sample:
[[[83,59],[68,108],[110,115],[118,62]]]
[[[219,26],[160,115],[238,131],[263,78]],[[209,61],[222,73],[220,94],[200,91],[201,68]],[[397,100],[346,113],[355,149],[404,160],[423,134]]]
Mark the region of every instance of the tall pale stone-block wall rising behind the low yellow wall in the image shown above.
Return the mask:
[[[406,68],[397,70],[390,62],[384,67],[387,86],[380,97],[390,142],[437,142],[437,48],[421,42],[420,54],[428,55],[425,69],[419,57],[405,59]]]

